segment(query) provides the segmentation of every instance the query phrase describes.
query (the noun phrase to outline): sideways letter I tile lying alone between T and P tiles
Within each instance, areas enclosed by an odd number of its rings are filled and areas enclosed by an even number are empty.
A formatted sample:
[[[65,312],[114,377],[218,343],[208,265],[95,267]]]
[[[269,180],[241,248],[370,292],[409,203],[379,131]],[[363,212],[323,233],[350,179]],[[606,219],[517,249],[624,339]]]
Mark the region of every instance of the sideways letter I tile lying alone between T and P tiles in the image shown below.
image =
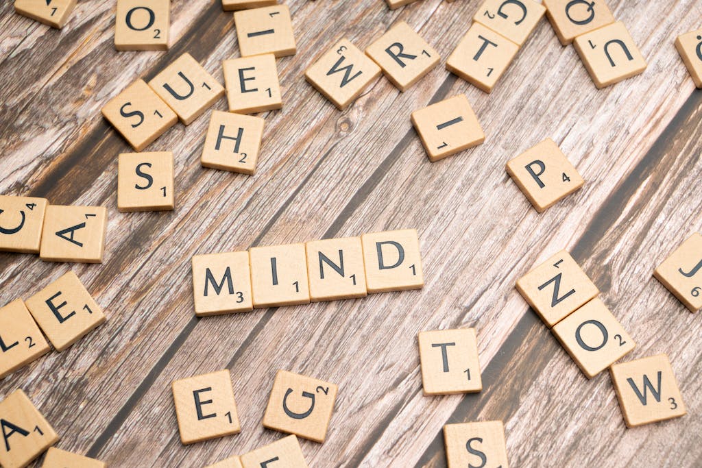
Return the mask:
[[[485,141],[485,133],[465,94],[412,112],[412,124],[432,162]]]

